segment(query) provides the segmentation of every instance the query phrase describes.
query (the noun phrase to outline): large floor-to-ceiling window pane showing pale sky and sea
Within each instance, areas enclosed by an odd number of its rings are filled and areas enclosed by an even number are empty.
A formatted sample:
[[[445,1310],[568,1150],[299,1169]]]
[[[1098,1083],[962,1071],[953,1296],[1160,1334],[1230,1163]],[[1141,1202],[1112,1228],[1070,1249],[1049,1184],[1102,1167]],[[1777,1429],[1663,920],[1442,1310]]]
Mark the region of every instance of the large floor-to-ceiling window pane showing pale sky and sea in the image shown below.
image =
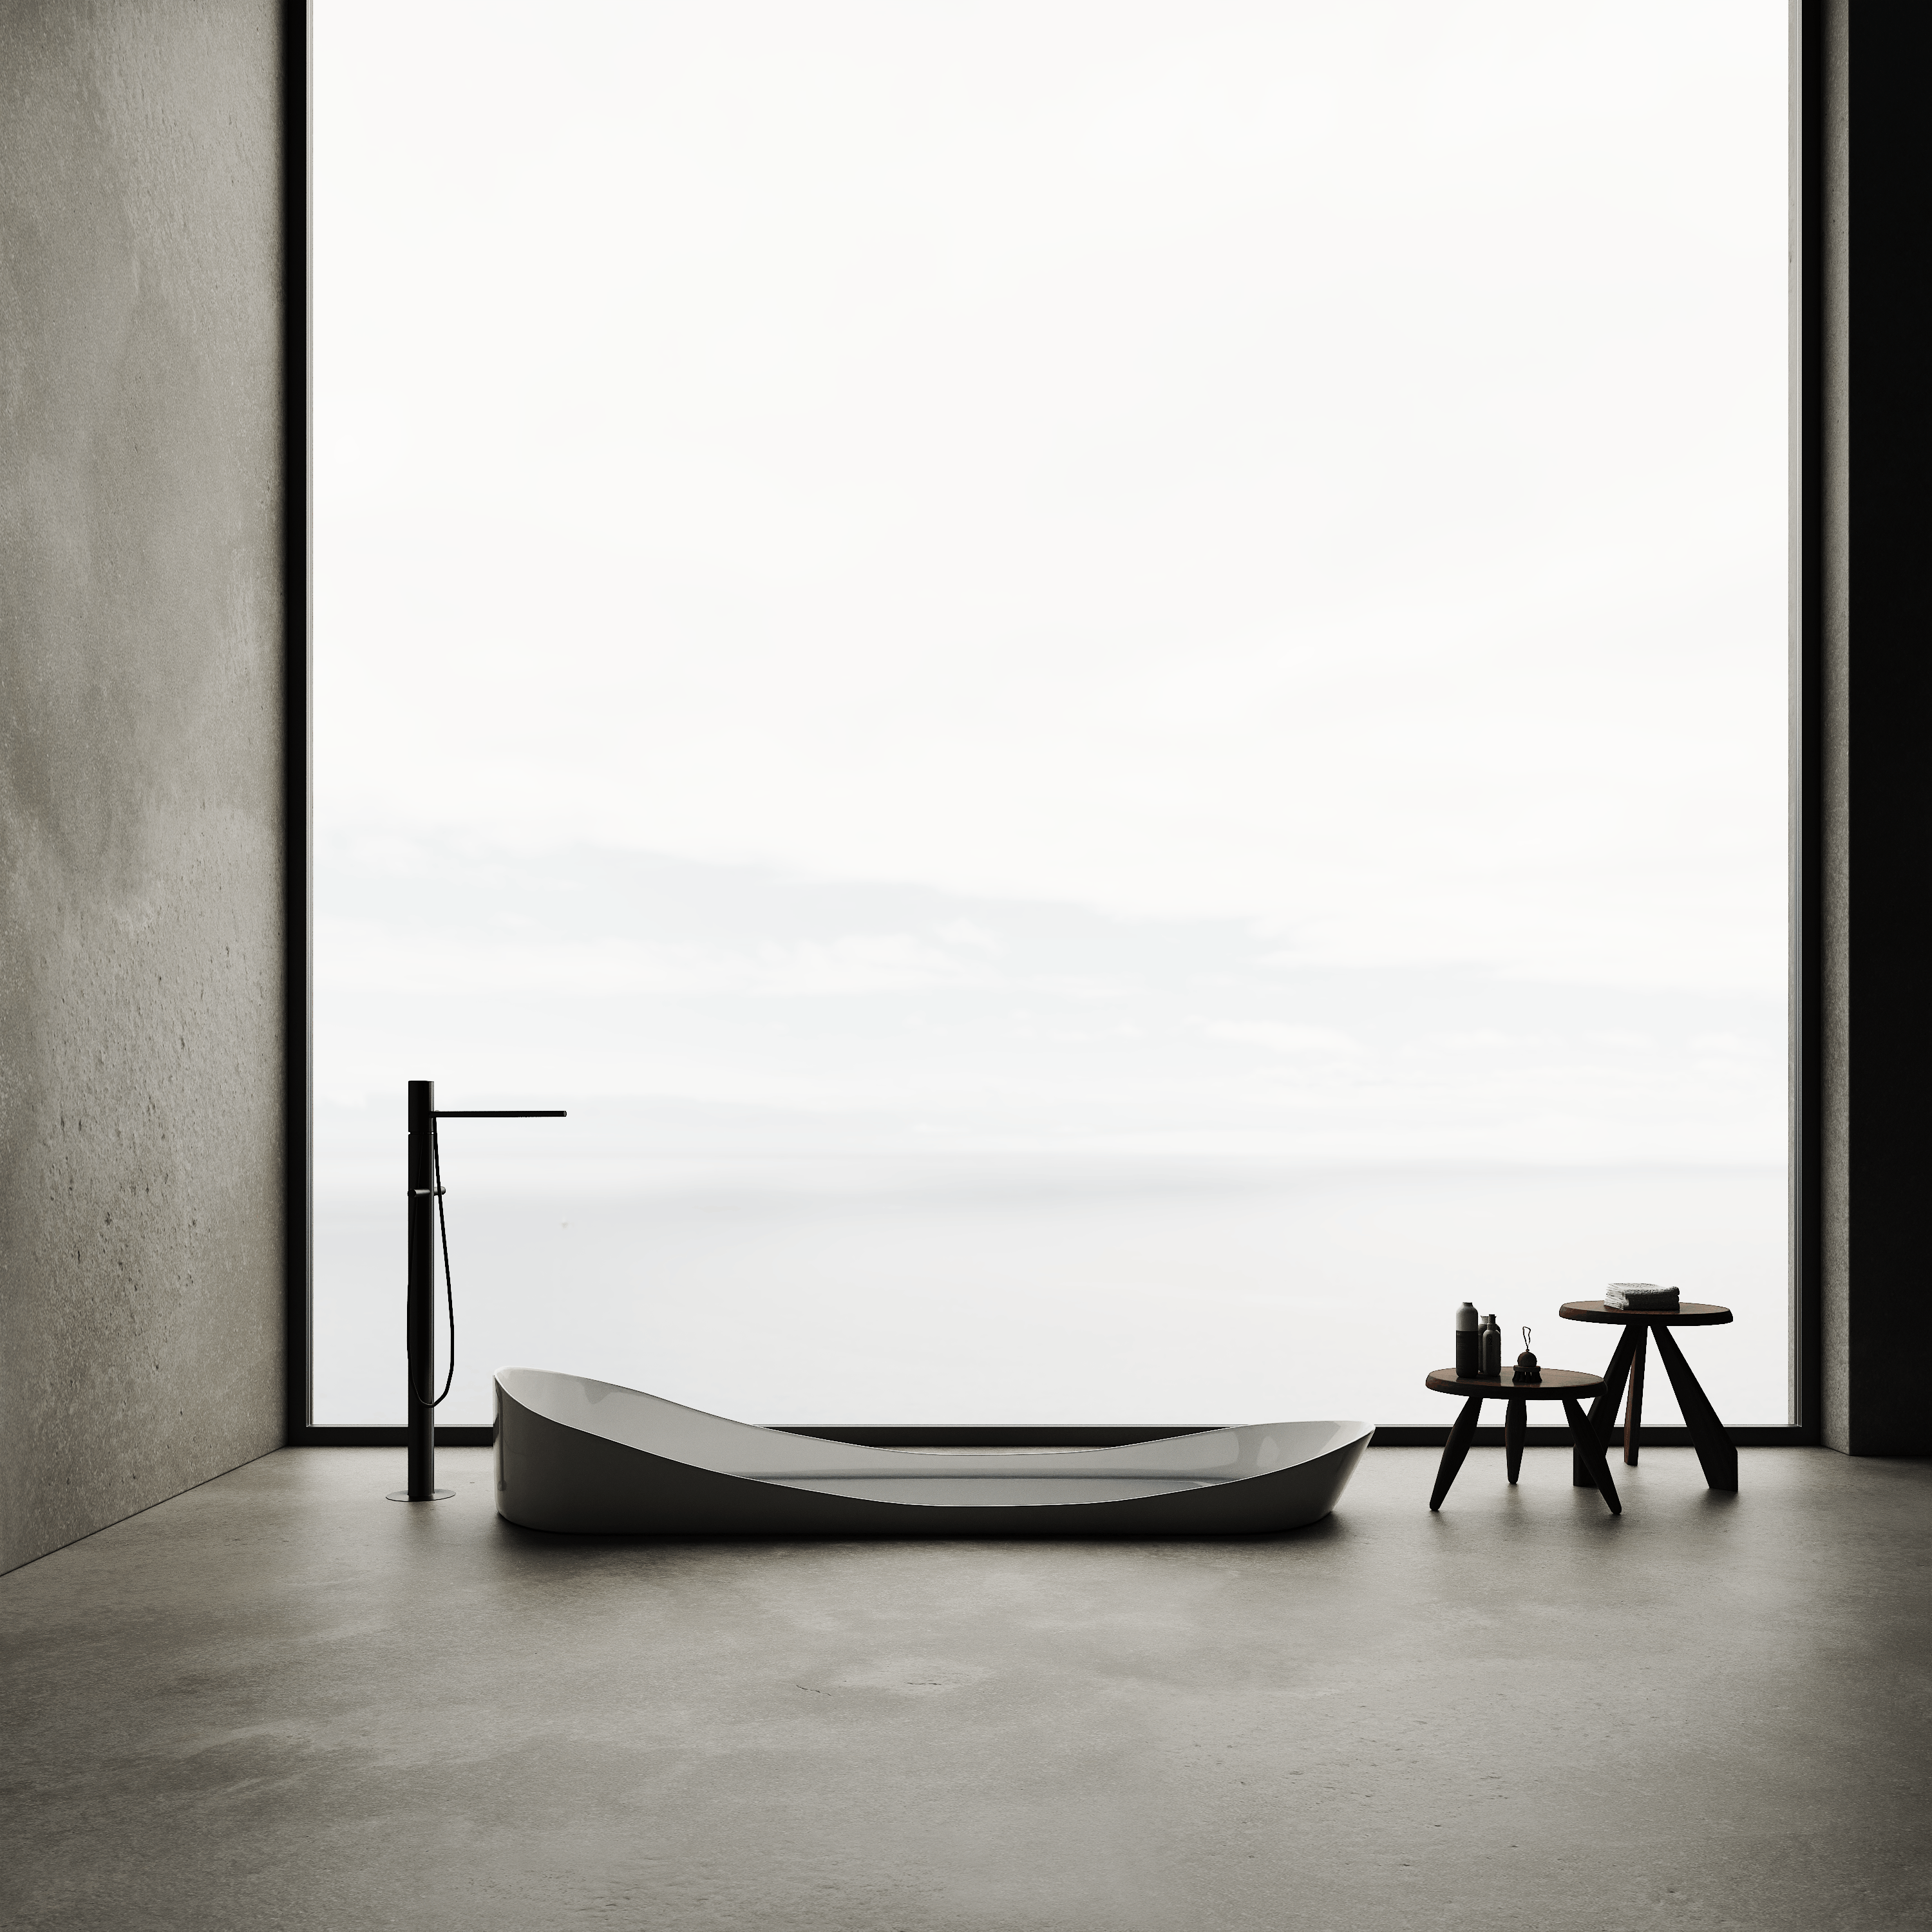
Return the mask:
[[[413,1076],[446,1420],[1785,1420],[1785,170],[1768,0],[317,0],[315,1418]]]

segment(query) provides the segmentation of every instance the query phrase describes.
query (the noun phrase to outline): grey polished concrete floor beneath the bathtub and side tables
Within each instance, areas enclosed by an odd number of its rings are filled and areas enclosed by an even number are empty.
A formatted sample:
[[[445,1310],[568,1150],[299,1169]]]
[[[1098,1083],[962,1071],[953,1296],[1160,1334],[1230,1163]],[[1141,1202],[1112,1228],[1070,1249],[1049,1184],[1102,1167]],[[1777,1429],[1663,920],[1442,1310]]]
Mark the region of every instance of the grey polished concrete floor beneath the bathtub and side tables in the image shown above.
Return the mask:
[[[1434,1463],[1279,1538],[626,1544],[282,1451],[0,1578],[0,1920],[1932,1924],[1932,1466]]]

